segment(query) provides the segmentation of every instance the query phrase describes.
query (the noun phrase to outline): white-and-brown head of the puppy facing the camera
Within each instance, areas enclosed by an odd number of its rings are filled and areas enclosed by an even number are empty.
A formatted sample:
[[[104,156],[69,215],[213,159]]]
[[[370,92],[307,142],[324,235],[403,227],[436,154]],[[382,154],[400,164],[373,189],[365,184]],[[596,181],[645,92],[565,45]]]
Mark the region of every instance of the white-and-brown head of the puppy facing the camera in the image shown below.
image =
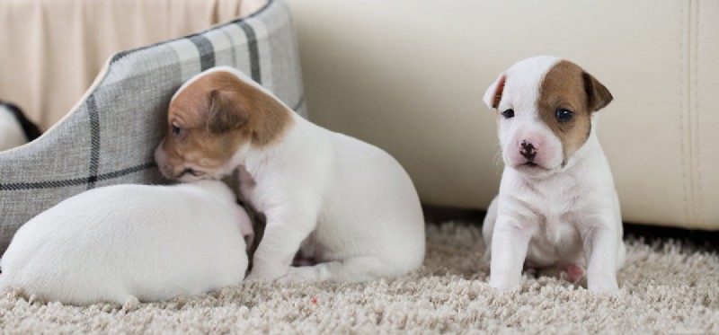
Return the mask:
[[[484,93],[497,110],[505,165],[537,178],[573,163],[592,135],[594,113],[612,99],[580,66],[544,56],[519,61]]]

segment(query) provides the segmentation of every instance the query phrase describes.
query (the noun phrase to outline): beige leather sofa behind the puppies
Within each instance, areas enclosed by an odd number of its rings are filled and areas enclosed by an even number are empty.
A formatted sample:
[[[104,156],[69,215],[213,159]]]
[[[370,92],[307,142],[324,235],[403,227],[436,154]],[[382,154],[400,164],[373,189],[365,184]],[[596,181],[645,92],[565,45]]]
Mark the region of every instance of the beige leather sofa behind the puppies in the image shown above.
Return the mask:
[[[310,119],[385,148],[423,202],[483,209],[502,166],[486,87],[566,57],[614,94],[599,139],[626,222],[719,229],[719,2],[291,0]]]

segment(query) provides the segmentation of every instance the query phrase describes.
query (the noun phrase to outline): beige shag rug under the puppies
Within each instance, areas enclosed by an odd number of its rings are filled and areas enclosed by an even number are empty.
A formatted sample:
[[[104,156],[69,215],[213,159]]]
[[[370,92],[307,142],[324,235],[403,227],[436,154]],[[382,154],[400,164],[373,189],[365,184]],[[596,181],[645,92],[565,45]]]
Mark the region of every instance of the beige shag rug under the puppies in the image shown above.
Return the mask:
[[[428,225],[418,272],[364,285],[244,283],[162,304],[45,304],[0,296],[0,333],[719,334],[719,257],[681,242],[627,242],[620,295],[525,276],[518,292],[487,285],[479,229]]]

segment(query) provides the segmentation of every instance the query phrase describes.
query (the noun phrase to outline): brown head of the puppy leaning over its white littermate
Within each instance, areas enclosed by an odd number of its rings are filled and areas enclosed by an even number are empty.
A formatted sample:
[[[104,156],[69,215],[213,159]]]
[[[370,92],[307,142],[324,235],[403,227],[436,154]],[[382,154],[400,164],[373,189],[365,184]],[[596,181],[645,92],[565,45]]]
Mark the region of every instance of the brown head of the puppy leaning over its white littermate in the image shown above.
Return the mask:
[[[290,113],[239,71],[210,69],[183,84],[170,101],[167,134],[155,161],[168,178],[219,178],[244,160],[249,147],[278,140]]]

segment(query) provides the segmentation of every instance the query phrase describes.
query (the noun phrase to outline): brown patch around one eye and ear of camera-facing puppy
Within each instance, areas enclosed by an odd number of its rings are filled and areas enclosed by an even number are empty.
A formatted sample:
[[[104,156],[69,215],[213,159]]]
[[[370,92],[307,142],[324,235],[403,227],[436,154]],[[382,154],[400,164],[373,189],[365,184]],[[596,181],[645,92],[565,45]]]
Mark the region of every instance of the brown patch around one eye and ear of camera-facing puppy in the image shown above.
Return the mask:
[[[546,73],[539,87],[539,118],[562,141],[564,163],[587,141],[591,131],[591,114],[612,101],[603,84],[580,66],[562,60]],[[568,110],[571,119],[561,121],[557,112]],[[560,112],[564,116],[566,113]]]

